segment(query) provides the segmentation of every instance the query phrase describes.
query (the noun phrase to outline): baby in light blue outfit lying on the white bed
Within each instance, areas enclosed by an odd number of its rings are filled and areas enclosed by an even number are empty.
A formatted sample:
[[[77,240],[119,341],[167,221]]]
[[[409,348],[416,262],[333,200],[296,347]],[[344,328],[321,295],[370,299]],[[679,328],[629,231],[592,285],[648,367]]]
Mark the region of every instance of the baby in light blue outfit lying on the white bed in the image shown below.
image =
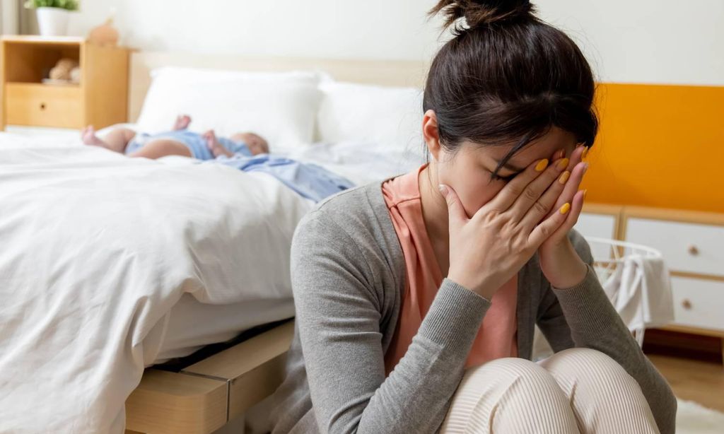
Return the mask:
[[[190,132],[190,123],[190,116],[180,115],[168,132],[137,134],[130,128],[119,127],[111,130],[102,139],[90,125],[83,129],[81,138],[86,145],[101,146],[130,157],[185,156],[198,160],[213,160],[219,156],[257,156],[269,153],[269,143],[253,132],[239,132],[229,138],[216,137],[213,129],[203,134]]]

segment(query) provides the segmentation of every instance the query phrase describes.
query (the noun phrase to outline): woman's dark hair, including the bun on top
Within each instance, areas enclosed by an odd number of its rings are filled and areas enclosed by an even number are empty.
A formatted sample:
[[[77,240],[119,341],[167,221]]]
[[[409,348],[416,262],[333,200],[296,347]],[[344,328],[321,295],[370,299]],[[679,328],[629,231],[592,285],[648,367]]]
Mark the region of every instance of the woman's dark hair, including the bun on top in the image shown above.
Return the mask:
[[[423,108],[437,115],[442,147],[515,144],[497,172],[551,127],[593,145],[591,67],[571,38],[535,17],[529,1],[442,0],[429,14],[439,12],[455,37],[432,61]]]

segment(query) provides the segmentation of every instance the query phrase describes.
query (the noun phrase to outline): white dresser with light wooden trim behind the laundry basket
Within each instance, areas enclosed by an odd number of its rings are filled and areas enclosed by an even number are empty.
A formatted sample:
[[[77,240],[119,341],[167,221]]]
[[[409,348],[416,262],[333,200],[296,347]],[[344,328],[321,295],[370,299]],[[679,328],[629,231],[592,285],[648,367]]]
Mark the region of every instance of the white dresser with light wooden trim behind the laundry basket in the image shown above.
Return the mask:
[[[675,314],[674,323],[664,329],[718,337],[724,355],[724,214],[590,204],[576,230],[662,252],[671,273]]]

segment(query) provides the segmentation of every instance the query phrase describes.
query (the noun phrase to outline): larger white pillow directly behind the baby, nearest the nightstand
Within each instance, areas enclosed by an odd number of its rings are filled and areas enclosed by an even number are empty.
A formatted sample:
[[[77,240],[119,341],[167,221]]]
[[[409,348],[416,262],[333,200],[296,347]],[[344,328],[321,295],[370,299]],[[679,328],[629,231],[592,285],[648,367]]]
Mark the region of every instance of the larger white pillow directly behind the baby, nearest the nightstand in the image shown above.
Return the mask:
[[[178,114],[190,129],[228,137],[256,132],[272,150],[310,143],[321,92],[316,72],[259,73],[164,67],[151,72],[138,118],[143,132],[167,131]]]

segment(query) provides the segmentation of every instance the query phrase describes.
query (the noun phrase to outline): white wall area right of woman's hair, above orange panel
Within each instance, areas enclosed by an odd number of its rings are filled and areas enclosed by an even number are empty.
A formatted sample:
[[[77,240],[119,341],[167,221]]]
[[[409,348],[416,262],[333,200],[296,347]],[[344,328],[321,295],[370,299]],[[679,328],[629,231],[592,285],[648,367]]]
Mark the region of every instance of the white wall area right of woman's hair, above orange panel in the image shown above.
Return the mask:
[[[602,80],[724,85],[722,0],[537,4],[541,17],[579,42]]]

